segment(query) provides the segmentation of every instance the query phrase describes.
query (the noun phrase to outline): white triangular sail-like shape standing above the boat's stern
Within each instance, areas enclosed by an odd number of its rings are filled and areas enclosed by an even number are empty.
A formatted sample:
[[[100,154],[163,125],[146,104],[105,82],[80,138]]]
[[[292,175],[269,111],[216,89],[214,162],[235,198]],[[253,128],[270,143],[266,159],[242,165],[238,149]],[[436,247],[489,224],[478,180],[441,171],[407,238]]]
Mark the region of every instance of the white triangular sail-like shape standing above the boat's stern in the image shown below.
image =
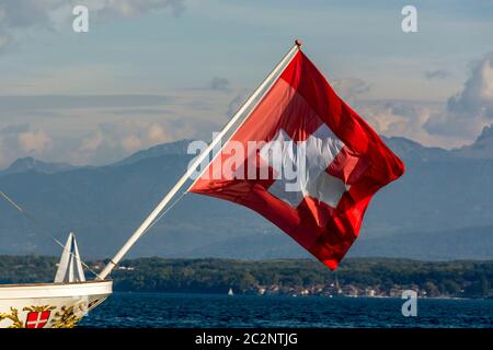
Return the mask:
[[[55,283],[64,282],[84,282],[85,276],[77,247],[76,235],[70,232],[67,243],[61,254],[60,264],[58,264]]]

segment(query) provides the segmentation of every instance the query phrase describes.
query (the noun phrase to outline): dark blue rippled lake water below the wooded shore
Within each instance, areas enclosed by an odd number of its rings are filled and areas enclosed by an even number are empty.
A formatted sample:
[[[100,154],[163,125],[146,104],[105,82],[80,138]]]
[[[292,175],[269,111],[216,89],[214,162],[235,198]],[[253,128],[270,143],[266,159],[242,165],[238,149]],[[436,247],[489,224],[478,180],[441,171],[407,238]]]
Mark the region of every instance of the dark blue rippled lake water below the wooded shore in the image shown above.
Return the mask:
[[[493,300],[115,293],[82,327],[493,327]]]

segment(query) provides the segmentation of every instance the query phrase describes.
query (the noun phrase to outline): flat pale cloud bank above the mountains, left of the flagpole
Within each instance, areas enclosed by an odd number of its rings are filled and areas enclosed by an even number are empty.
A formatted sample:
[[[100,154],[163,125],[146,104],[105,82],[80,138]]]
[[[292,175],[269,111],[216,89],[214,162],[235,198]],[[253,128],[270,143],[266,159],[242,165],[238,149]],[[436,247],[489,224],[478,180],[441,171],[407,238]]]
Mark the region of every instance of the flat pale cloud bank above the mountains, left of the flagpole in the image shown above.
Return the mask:
[[[0,167],[26,155],[102,165],[159,143],[208,140],[227,119],[228,98],[209,90],[165,96],[0,96]],[[204,101],[213,107],[196,105]],[[44,140],[39,130],[56,142]],[[34,148],[38,151],[27,154]]]

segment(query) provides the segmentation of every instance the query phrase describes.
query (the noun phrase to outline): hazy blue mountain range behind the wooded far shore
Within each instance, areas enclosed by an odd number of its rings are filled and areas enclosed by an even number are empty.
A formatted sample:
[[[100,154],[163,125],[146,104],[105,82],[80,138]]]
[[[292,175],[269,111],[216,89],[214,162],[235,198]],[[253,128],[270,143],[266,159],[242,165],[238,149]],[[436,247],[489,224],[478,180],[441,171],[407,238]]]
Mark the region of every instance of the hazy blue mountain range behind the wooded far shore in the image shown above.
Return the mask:
[[[369,206],[351,256],[493,258],[493,129],[470,145],[428,148],[385,138],[406,173]],[[45,234],[77,234],[87,258],[112,256],[186,168],[188,140],[139,151],[106,166],[74,167],[34,159],[0,172],[4,190],[43,222],[35,228],[0,201],[0,254],[59,254]],[[305,257],[287,235],[252,211],[187,195],[129,255]]]

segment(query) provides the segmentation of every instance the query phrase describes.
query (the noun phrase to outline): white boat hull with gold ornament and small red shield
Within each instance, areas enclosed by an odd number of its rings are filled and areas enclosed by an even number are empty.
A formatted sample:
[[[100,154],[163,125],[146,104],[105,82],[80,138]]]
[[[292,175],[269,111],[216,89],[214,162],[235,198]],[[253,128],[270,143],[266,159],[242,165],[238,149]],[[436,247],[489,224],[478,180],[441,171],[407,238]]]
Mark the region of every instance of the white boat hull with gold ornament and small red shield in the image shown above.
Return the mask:
[[[0,328],[72,328],[112,288],[113,281],[0,284]]]

